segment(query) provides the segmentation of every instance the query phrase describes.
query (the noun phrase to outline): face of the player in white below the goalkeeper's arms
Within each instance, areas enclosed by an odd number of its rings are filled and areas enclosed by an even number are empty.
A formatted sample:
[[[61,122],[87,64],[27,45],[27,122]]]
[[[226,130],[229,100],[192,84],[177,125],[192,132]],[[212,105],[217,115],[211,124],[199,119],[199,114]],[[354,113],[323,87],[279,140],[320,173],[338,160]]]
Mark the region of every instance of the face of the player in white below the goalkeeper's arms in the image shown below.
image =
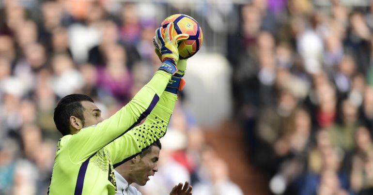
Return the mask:
[[[138,165],[136,165],[136,173],[134,182],[139,185],[145,185],[149,180],[149,176],[153,176],[155,172],[158,171],[158,159],[159,159],[159,148],[156,146],[151,146],[151,151],[149,151],[145,156],[143,156]]]

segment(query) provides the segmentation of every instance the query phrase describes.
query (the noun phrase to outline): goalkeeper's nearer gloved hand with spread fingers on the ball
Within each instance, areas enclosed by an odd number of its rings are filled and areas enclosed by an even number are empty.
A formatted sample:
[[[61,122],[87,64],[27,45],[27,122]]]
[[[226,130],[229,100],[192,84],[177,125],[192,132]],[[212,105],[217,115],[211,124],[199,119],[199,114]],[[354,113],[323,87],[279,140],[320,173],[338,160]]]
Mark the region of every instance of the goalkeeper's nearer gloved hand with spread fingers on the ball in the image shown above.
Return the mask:
[[[172,36],[172,32],[174,31],[172,22],[167,25],[167,28],[166,30],[164,30],[163,33],[162,30],[162,27],[159,27],[157,30],[155,30],[155,37],[153,38],[155,53],[162,61],[162,65],[159,67],[158,70],[166,71],[171,75],[175,75],[176,73],[178,73],[179,77],[182,77],[182,75],[184,75],[185,68],[184,71],[178,71],[178,68],[176,67],[176,64],[178,64],[179,61],[179,51],[177,49],[177,43],[181,40],[187,39],[189,35],[178,34],[176,36]]]

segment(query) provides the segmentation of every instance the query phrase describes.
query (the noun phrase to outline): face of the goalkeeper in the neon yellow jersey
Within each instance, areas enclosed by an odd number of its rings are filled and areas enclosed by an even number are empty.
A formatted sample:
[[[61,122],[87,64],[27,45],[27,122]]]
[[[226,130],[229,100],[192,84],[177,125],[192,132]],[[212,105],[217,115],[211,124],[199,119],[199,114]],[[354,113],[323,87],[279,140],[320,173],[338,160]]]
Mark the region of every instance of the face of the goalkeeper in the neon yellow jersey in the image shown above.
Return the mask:
[[[82,101],[81,105],[84,107],[84,125],[83,127],[89,127],[94,124],[101,122],[101,110],[93,103],[89,101]]]

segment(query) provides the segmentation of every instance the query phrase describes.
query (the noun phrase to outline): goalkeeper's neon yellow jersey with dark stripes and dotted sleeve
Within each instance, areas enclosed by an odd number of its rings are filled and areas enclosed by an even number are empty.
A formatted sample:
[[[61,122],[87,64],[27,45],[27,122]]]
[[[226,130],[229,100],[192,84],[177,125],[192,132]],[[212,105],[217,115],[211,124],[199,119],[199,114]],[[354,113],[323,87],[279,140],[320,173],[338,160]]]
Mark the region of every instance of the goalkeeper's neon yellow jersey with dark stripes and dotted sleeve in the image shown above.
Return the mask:
[[[48,194],[114,195],[113,168],[166,133],[176,102],[175,94],[164,91],[170,78],[170,74],[157,71],[109,119],[83,128],[78,134],[63,136],[58,143]]]

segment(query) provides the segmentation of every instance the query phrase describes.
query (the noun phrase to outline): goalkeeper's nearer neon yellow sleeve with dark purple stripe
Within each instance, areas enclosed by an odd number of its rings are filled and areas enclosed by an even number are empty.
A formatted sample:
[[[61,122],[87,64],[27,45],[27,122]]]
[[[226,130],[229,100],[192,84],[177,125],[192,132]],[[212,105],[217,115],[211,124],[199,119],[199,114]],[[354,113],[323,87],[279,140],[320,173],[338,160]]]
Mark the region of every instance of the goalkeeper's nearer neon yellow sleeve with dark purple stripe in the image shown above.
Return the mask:
[[[84,161],[145,119],[159,101],[171,75],[157,71],[135,97],[109,119],[83,128],[71,137],[69,155],[73,162]]]

